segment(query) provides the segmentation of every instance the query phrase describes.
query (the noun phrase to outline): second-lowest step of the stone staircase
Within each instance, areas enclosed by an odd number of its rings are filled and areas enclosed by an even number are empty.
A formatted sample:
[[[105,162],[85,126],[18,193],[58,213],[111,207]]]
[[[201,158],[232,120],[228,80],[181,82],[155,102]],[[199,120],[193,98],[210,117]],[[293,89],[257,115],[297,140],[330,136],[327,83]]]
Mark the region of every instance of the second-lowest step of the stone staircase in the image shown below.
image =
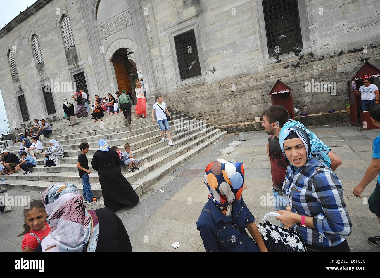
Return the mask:
[[[155,169],[158,169],[162,165],[170,163],[171,161],[174,161],[179,156],[182,156],[185,154],[185,156],[181,158],[180,161],[185,161],[185,158],[190,160],[191,158],[193,158],[191,150],[196,149],[198,145],[202,144],[203,142],[209,140],[211,137],[214,137],[215,135],[221,132],[221,130],[215,130],[214,126],[210,127],[210,129],[212,131],[207,132],[206,134],[204,134],[203,131],[198,131],[197,133],[191,136],[181,139],[178,142],[180,144],[180,147],[177,147],[174,150],[171,149],[173,146],[169,146],[169,145],[156,149],[156,151],[160,153],[159,157],[155,158],[149,163],[145,163],[145,165],[141,166],[139,170],[133,173],[130,173],[130,172],[123,173],[123,175],[128,179],[130,183],[133,183],[137,181],[139,178],[143,178],[144,176],[148,175],[150,172],[154,171]],[[182,143],[184,144],[182,145]],[[180,164],[178,165],[180,166]],[[45,168],[49,169],[49,167],[45,167]],[[54,168],[54,167],[50,167],[50,168]],[[59,167],[55,166],[55,168],[58,169]],[[5,177],[6,181],[7,180],[28,180],[28,181],[34,180],[34,181],[46,181],[46,182],[63,182],[63,181],[73,182],[73,183],[81,182],[81,179],[78,175],[78,171],[44,172],[44,173],[32,172],[28,175],[23,175],[22,172],[16,172],[12,175],[3,175],[3,177]],[[157,181],[157,179],[155,180]],[[7,184],[6,181],[5,181],[5,185]],[[99,182],[98,173],[92,172],[89,175],[89,181],[90,183],[98,183]]]

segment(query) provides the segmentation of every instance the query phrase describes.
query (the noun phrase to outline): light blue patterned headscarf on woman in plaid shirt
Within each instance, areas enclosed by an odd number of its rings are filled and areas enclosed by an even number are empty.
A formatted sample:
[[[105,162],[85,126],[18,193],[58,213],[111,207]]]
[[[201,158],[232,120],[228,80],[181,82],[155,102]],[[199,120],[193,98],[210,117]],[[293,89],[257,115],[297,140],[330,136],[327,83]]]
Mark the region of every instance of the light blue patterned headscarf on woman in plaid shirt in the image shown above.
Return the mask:
[[[331,151],[331,148],[329,148],[325,143],[320,141],[320,139],[314,133],[312,133],[302,123],[298,121],[288,121],[287,123],[285,123],[285,125],[283,125],[283,127],[280,130],[279,142],[280,147],[282,149],[282,153],[284,155],[284,141],[285,138],[288,137],[288,135],[291,133],[291,131],[294,131],[304,143],[307,149],[307,153],[309,154],[307,160],[309,160],[312,157],[312,155],[315,155],[317,156],[318,160],[323,160],[323,163],[325,163],[328,167],[331,166],[331,160],[327,155]],[[309,144],[307,141],[309,141]],[[308,145],[310,146],[310,150],[308,149]],[[286,155],[285,158],[288,160]]]

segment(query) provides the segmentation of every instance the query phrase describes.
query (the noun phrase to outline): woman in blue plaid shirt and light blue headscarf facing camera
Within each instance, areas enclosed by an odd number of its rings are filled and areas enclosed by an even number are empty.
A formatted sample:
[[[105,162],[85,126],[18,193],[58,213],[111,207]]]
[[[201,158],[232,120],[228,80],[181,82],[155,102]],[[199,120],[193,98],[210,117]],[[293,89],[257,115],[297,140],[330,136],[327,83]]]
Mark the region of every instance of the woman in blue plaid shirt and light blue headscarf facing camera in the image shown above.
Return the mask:
[[[276,211],[281,214],[276,219],[301,235],[307,251],[349,252],[346,236],[352,224],[342,183],[326,161],[330,149],[319,139],[310,140],[306,128],[296,121],[282,127],[279,142],[290,162],[282,192],[291,211]]]

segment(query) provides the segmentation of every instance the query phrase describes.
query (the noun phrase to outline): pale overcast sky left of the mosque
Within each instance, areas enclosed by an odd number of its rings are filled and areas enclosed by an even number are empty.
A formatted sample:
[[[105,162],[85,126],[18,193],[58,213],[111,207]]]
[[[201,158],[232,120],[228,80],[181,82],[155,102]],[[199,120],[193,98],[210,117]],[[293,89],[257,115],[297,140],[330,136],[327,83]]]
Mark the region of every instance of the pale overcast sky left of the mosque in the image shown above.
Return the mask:
[[[12,19],[20,14],[21,11],[25,11],[26,7],[32,6],[36,0],[16,0],[16,1],[5,1],[0,0],[0,29],[2,29],[5,24],[8,24]],[[2,92],[3,84],[0,84],[0,111],[5,111],[2,94],[14,93],[14,92]],[[6,113],[0,113],[0,134],[5,134],[8,132],[8,125],[6,123]],[[10,120],[10,119],[9,119]],[[0,137],[1,139],[1,137]]]

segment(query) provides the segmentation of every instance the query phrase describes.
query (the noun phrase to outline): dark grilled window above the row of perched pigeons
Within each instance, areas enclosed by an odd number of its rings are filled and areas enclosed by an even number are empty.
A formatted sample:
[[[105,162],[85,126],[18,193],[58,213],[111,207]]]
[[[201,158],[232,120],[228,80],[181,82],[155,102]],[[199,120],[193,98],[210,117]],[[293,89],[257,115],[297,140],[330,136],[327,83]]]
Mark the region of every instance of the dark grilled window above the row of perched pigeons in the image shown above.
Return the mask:
[[[265,0],[263,11],[269,57],[291,52],[297,43],[299,49],[303,47],[297,0]],[[287,37],[280,39],[280,35]]]

